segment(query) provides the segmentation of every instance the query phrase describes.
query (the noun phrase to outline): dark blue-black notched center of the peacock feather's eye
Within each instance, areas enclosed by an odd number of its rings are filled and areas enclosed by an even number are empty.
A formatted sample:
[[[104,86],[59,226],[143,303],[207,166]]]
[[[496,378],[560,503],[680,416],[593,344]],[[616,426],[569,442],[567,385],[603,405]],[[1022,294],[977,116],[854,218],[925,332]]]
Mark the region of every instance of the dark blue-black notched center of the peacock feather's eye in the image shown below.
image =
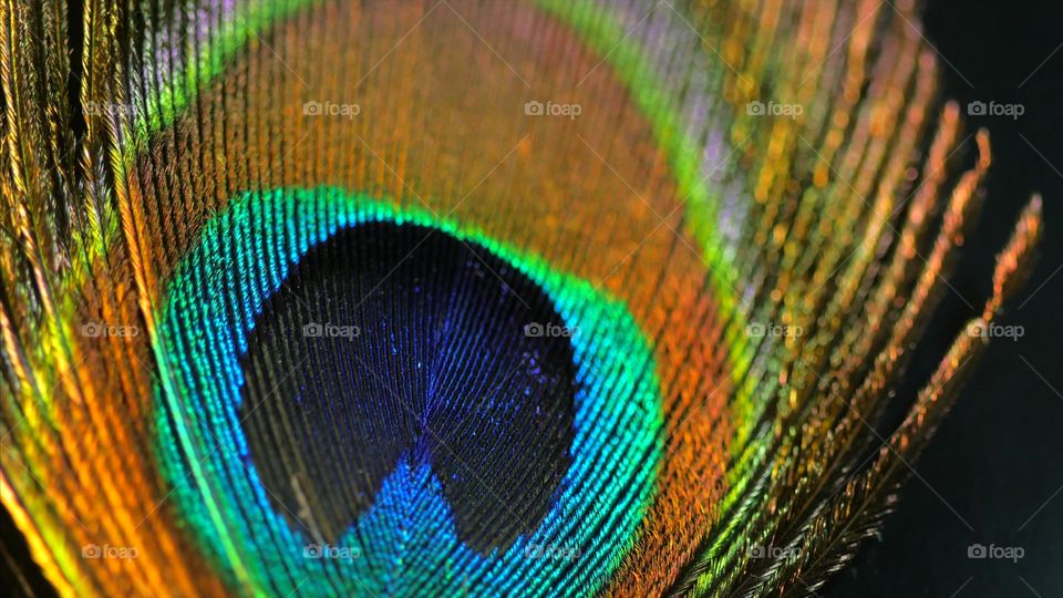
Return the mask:
[[[572,348],[550,298],[483,247],[365,223],[311,248],[240,357],[240,421],[270,499],[336,543],[401,458],[429,464],[458,537],[534,530],[570,463]]]

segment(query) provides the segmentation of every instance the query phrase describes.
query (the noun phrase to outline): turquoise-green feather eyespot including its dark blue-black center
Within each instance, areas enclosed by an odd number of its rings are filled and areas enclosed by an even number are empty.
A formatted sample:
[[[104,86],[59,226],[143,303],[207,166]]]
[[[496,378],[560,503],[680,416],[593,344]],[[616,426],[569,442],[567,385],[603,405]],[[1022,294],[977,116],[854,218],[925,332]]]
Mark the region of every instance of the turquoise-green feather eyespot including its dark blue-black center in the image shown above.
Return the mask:
[[[616,566],[661,444],[653,357],[621,303],[334,188],[234,200],[184,260],[158,451],[231,582],[448,592],[484,571],[482,591],[524,592]]]

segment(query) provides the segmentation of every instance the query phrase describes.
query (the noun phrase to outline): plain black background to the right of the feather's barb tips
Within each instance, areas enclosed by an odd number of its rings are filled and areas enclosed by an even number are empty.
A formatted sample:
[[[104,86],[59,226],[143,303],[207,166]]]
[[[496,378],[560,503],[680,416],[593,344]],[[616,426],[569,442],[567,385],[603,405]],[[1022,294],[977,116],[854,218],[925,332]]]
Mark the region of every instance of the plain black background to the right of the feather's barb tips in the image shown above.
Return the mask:
[[[993,256],[1034,192],[1044,198],[1044,237],[1036,268],[1000,321],[1024,327],[1025,336],[990,347],[914,464],[918,476],[902,488],[880,540],[867,542],[819,595],[1063,596],[1063,9],[1055,0],[929,0],[923,14],[946,96],[964,113],[974,100],[1025,107],[1016,120],[968,121],[971,132],[989,130],[993,167],[952,287],[982,305]],[[948,295],[920,348],[933,355],[972,315]],[[930,361],[917,359],[915,369]],[[1025,555],[1018,563],[969,559],[974,543]]]

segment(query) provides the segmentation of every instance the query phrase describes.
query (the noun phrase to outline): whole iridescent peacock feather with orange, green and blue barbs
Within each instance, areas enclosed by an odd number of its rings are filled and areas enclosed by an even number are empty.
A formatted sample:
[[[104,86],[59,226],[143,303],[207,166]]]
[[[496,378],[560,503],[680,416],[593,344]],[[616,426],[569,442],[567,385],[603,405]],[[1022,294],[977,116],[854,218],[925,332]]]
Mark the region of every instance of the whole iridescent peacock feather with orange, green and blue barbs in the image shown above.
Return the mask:
[[[814,592],[1041,230],[1034,197],[904,392],[990,167],[912,4],[3,0],[0,499],[34,567]]]

